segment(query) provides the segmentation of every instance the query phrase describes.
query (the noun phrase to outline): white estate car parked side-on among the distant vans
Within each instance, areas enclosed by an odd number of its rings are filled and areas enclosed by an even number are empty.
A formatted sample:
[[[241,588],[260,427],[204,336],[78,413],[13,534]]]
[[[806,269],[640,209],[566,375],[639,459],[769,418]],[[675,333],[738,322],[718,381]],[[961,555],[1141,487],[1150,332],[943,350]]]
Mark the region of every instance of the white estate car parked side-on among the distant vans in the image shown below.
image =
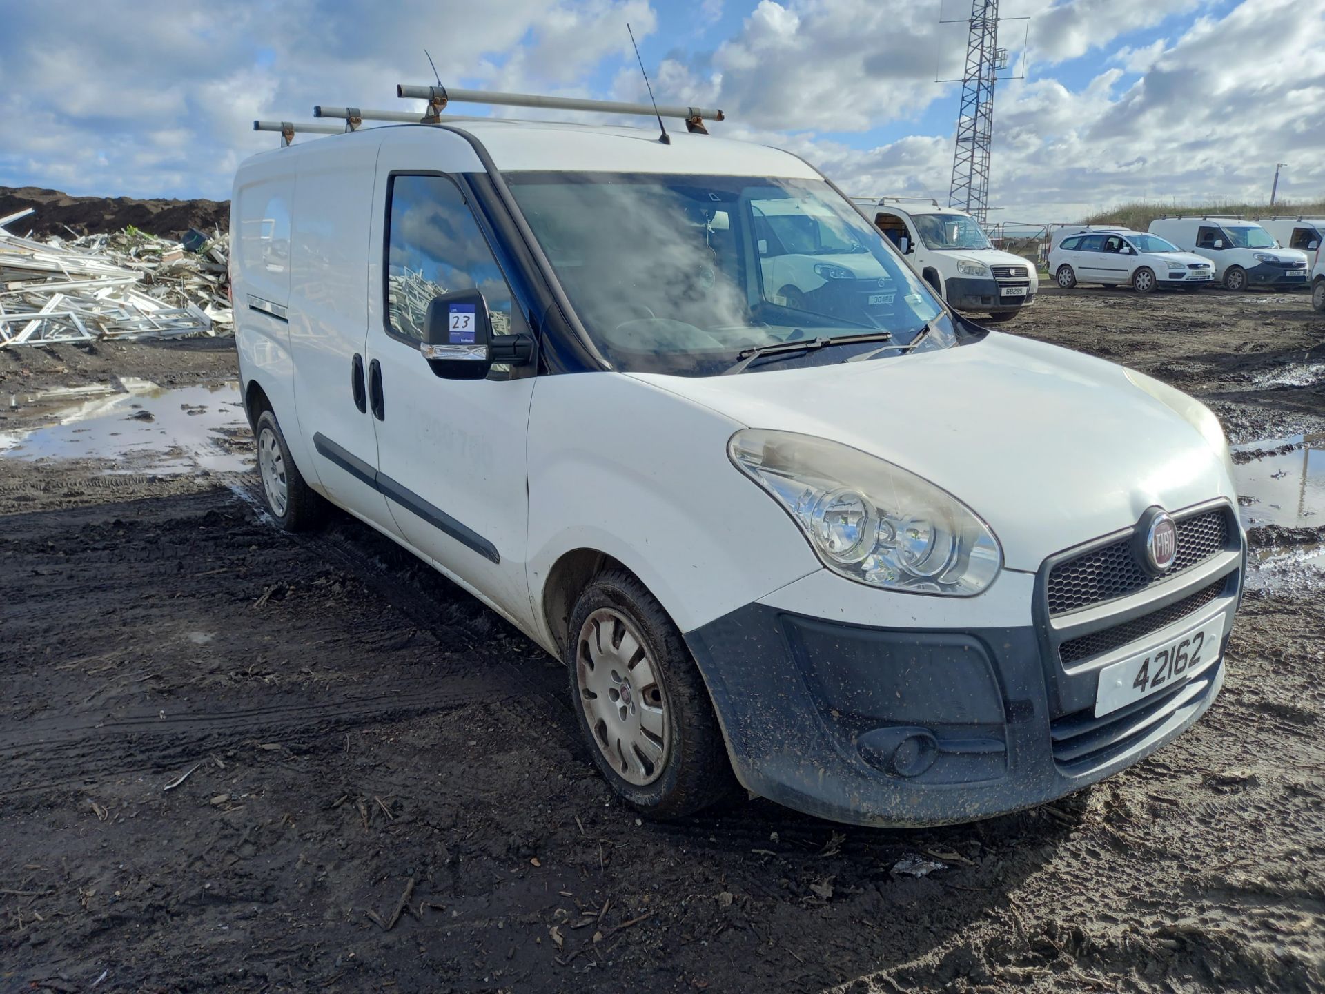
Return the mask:
[[[1049,273],[1064,289],[1079,284],[1129,285],[1137,293],[1210,286],[1208,258],[1179,252],[1163,239],[1121,228],[1065,228],[1049,245]]]

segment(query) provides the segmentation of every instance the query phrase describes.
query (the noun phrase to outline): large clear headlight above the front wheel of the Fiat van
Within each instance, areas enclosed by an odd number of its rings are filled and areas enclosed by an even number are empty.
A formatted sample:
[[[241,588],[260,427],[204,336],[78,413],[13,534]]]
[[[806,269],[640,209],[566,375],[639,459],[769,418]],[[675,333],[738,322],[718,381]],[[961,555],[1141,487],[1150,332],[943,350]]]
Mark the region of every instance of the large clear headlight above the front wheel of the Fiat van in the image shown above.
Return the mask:
[[[727,443],[737,469],[791,516],[833,573],[913,594],[979,594],[1003,550],[950,493],[828,439],[746,428]]]

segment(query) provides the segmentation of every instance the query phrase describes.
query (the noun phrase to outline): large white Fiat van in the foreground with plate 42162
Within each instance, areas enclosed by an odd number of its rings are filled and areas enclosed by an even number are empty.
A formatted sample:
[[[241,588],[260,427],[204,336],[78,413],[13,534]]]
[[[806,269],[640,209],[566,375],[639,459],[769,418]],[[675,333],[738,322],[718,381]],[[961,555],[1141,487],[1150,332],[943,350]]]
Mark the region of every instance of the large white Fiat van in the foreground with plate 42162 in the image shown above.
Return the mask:
[[[1214,415],[963,319],[795,155],[656,134],[443,119],[244,162],[272,517],[330,501],[564,660],[655,815],[739,782],[970,820],[1196,721],[1244,571]]]

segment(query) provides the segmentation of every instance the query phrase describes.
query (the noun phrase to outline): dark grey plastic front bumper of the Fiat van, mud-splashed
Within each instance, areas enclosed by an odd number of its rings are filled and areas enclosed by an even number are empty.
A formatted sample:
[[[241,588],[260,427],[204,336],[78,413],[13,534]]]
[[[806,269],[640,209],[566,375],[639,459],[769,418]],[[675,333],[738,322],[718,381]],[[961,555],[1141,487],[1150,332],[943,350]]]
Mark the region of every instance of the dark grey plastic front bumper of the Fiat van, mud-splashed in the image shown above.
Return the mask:
[[[1191,725],[1224,665],[1220,647],[1199,676],[1096,718],[1051,714],[1031,626],[885,630],[750,604],[686,641],[741,782],[871,826],[969,822],[1093,783]]]

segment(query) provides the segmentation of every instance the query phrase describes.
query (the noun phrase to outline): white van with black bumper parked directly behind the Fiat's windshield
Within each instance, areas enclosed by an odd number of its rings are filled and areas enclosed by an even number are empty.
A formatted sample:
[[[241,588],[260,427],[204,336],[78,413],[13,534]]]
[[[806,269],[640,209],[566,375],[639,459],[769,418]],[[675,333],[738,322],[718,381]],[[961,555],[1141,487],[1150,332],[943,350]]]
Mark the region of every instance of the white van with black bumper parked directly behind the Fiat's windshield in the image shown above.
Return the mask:
[[[969,213],[920,197],[855,200],[954,310],[1008,321],[1035,302],[1040,289],[1035,266],[994,248]]]

